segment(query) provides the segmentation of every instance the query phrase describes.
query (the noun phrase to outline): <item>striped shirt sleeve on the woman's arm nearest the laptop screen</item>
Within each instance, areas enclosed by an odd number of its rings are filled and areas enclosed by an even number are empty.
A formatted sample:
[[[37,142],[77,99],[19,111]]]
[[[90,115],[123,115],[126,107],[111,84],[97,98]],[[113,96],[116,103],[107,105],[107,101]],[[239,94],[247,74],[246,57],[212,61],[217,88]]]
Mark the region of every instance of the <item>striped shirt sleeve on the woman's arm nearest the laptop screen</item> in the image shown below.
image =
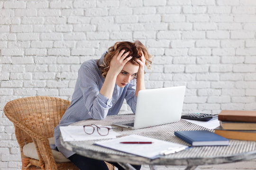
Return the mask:
[[[130,106],[133,113],[135,113],[136,105],[137,105],[137,97],[135,95],[135,90],[136,90],[136,81],[135,79],[133,79],[133,81],[131,81],[128,84],[127,93],[125,97],[126,102]]]

